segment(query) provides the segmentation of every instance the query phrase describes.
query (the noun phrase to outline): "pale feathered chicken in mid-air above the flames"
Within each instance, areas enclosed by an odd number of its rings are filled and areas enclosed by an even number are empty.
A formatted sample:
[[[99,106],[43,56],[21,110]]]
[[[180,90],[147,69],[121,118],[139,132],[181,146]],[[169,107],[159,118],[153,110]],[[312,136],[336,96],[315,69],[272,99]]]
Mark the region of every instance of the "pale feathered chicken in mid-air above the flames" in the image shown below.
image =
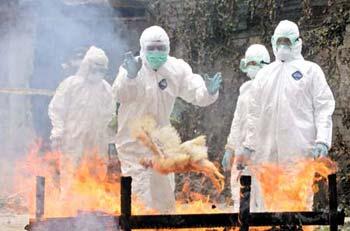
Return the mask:
[[[135,139],[151,150],[151,158],[141,158],[140,164],[162,174],[198,172],[210,178],[215,188],[222,191],[224,176],[208,160],[205,136],[181,142],[172,126],[158,127],[155,120],[144,117],[131,125]]]

